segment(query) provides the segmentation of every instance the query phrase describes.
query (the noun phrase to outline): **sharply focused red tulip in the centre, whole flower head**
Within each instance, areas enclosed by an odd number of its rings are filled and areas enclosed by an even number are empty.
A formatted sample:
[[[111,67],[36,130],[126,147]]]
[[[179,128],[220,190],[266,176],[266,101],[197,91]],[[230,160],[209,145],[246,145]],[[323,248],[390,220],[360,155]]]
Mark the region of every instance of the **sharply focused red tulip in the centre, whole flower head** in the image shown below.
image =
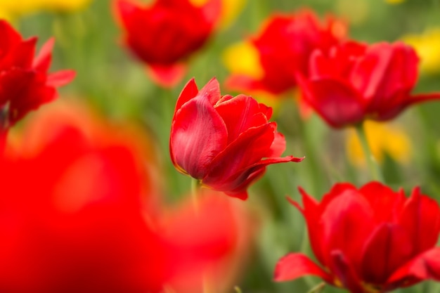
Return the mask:
[[[285,138],[269,122],[272,108],[250,96],[221,96],[211,79],[200,91],[191,79],[174,112],[169,150],[181,173],[227,195],[247,198],[247,187],[268,164],[301,162],[280,157]]]

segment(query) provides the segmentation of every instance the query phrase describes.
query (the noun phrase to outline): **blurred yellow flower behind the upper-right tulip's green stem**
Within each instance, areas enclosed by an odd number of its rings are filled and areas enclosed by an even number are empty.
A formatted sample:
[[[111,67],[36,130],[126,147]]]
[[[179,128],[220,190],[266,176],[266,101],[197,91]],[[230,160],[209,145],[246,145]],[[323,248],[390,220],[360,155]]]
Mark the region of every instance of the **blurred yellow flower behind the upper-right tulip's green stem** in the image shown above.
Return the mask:
[[[405,132],[397,126],[365,122],[368,144],[377,162],[382,162],[387,153],[396,162],[406,163],[411,155],[411,143]],[[346,141],[349,160],[358,166],[365,166],[365,156],[354,129],[350,129]]]

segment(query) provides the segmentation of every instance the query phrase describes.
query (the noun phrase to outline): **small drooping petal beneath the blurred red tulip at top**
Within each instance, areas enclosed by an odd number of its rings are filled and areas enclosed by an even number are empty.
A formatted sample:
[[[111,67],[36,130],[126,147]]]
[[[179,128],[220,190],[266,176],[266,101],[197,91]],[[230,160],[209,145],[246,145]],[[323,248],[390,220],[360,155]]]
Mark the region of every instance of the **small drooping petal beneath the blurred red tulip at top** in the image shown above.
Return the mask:
[[[186,74],[187,67],[183,63],[172,65],[151,64],[147,67],[148,74],[156,84],[171,89],[179,84]]]

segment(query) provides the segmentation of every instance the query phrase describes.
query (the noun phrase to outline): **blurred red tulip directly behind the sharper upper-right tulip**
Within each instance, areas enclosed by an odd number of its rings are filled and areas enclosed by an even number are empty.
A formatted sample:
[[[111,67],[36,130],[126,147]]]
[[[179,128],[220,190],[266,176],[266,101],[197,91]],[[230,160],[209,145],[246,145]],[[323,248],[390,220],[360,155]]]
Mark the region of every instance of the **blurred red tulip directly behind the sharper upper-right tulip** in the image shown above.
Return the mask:
[[[295,74],[307,74],[313,50],[328,51],[345,38],[344,23],[329,17],[320,23],[313,11],[271,16],[250,41],[259,53],[261,78],[233,74],[226,82],[229,89],[266,91],[280,94],[297,85]]]

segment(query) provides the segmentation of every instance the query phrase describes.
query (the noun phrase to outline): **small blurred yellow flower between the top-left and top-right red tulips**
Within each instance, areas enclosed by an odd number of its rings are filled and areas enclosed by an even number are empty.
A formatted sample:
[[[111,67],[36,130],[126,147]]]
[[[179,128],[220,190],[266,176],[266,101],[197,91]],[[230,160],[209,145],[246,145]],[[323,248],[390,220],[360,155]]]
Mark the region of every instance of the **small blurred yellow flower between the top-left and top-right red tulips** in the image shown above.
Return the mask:
[[[259,79],[264,70],[259,60],[259,52],[248,41],[241,41],[228,46],[223,54],[226,68],[234,74],[243,74]]]

